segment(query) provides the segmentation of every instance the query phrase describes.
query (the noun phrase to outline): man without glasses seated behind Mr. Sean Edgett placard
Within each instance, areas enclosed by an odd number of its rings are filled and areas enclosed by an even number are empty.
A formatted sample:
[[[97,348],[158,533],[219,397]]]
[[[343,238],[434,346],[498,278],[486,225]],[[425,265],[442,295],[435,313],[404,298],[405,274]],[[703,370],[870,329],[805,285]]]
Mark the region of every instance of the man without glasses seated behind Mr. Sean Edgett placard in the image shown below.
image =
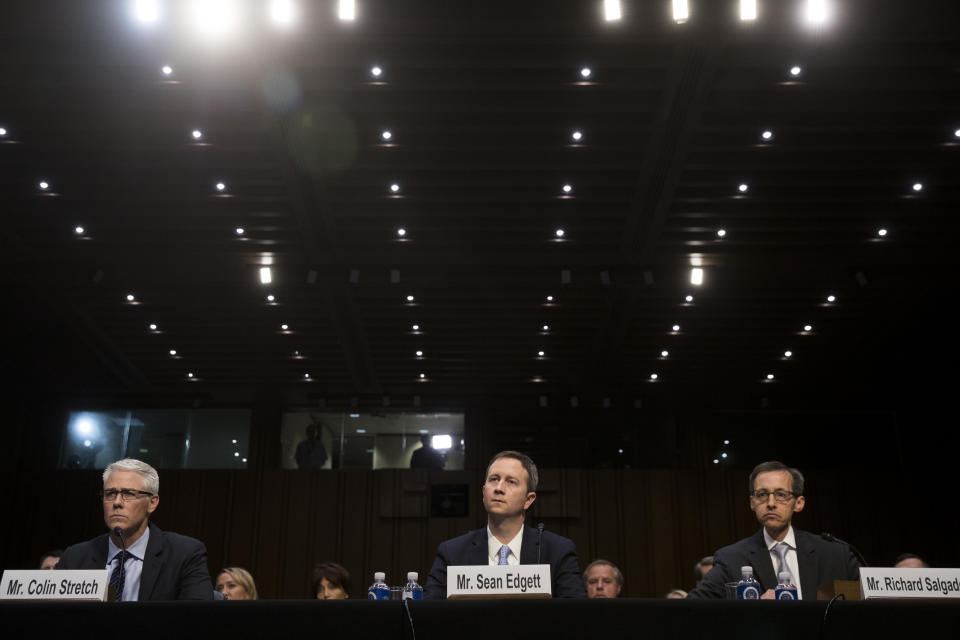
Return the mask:
[[[550,565],[554,598],[586,598],[577,550],[571,540],[524,526],[537,499],[539,474],[533,460],[517,451],[501,451],[487,465],[483,507],[487,526],[440,544],[427,576],[424,597],[447,597],[447,567],[463,565]]]

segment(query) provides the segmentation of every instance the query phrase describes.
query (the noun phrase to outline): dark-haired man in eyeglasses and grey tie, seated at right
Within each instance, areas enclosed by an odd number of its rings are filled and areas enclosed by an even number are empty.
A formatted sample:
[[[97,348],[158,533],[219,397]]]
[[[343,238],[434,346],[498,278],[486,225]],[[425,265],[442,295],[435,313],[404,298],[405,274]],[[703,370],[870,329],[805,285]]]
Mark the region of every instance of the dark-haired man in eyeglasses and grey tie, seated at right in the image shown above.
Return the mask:
[[[723,598],[724,584],[740,580],[740,568],[753,567],[761,597],[774,597],[777,574],[789,572],[802,600],[816,600],[817,589],[832,580],[857,580],[860,563],[850,547],[794,529],[793,514],[803,511],[803,474],[782,462],[764,462],[750,474],[750,508],[762,525],[753,536],[713,555],[713,569],[687,598]]]

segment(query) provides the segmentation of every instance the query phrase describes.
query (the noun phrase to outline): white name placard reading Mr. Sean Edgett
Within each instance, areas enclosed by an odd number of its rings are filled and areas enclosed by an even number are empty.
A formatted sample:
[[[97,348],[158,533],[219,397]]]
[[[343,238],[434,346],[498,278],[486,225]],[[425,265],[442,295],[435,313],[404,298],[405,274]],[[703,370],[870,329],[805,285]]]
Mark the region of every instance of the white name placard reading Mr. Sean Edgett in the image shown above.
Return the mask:
[[[447,567],[447,598],[549,598],[550,565]]]

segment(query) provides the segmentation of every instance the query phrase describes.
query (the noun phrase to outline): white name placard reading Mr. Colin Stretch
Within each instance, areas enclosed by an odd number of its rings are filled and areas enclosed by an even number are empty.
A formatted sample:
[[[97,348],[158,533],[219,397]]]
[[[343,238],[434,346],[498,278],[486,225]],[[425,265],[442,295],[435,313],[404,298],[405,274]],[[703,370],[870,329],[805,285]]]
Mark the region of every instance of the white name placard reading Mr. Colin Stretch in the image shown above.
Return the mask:
[[[107,600],[106,569],[3,572],[0,600]]]

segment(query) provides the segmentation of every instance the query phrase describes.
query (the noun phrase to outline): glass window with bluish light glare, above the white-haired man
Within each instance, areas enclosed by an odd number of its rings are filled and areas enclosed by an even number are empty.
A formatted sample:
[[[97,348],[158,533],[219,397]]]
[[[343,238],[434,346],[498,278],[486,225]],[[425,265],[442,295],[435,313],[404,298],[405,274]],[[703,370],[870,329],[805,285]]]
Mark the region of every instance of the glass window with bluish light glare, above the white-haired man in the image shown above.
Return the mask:
[[[102,469],[137,458],[157,469],[244,469],[249,435],[244,410],[73,411],[60,466]]]

